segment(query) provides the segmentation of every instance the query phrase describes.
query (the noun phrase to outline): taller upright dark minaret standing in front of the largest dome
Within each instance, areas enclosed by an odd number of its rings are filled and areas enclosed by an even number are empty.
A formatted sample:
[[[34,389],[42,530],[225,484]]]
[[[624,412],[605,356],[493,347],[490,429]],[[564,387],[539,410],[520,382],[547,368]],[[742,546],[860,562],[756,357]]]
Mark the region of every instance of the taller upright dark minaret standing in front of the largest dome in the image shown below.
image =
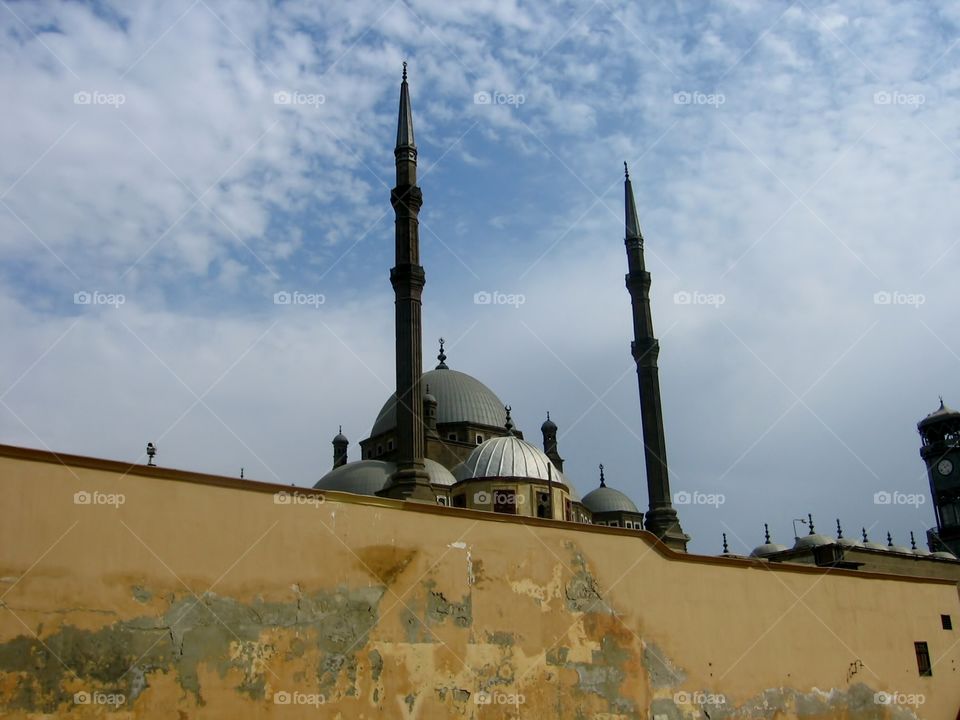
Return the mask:
[[[397,120],[397,185],[390,193],[396,215],[396,263],[390,283],[396,297],[397,470],[383,489],[393,498],[432,502],[430,478],[424,469],[426,442],[423,425],[423,374],[420,320],[425,276],[420,266],[420,230],[417,216],[423,194],[417,186],[417,146],[413,140],[413,111],[407,86],[407,64],[400,84]]]

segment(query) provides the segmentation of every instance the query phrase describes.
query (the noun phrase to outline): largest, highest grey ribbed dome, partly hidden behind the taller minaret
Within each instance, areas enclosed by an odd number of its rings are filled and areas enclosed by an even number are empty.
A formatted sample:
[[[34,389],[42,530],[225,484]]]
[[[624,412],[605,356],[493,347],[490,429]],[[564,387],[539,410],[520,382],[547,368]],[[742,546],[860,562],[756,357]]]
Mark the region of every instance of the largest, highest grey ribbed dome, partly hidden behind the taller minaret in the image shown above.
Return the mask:
[[[503,403],[493,391],[466,373],[438,368],[423,374],[420,387],[424,393],[430,387],[430,394],[437,399],[437,424],[467,422],[473,425],[487,425],[503,428],[507,422],[507,413]],[[391,395],[377,415],[370,437],[397,427],[396,394]]]

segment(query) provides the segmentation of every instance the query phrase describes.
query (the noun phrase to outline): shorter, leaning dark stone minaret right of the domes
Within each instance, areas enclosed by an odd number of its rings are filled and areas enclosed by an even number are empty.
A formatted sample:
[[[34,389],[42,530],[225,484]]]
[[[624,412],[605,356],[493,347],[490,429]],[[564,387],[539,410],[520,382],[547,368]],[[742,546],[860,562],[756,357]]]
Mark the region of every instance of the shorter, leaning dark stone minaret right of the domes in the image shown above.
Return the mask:
[[[650,510],[644,526],[674,550],[686,550],[690,537],[680,527],[677,511],[670,500],[670,478],[667,473],[667,444],[663,433],[663,411],[660,406],[660,377],[657,356],[660,343],[653,335],[650,314],[650,273],[643,260],[643,235],[637,219],[637,205],[630,184],[627,164],[624,170],[626,205],[627,290],[633,307],[633,343],[631,350],[637,364],[640,382],[640,414],[643,418],[643,450],[647,467],[647,494]]]

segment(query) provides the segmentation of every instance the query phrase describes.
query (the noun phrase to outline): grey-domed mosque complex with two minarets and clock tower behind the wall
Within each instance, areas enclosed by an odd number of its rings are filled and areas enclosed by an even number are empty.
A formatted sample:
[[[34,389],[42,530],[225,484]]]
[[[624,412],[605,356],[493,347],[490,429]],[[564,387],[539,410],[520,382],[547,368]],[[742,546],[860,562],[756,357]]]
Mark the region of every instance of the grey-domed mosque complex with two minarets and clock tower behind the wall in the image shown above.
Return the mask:
[[[541,519],[592,523],[627,530],[649,530],[675,550],[686,550],[689,536],[672,505],[653,332],[650,273],[644,262],[630,174],[624,163],[626,286],[633,311],[631,351],[637,366],[649,509],[641,511],[623,492],[606,483],[600,466],[599,487],[579,497],[564,475],[557,444],[557,424],[549,413],[540,426],[537,447],[515,427],[510,407],[483,382],[452,369],[440,339],[438,363],[422,370],[421,292],[417,216],[423,202],[417,186],[417,146],[406,64],[400,87],[397,184],[391,194],[396,214],[396,265],[391,282],[396,294],[397,389],[383,404],[360,441],[360,457],[349,461],[349,440],[342,428],[333,439],[333,468],[314,485],[318,490],[403,498],[471,510],[486,510]],[[402,401],[398,403],[398,398]],[[960,577],[960,413],[940,408],[918,425],[921,456],[927,465],[937,527],[918,546],[873,542],[867,529],[844,536],[818,533],[812,516],[808,533],[791,547],[773,542],[765,526],[764,541],[751,557],[771,562],[798,562],[847,569],[905,574],[946,573]],[[729,552],[724,538],[723,555]],[[917,561],[923,560],[918,566]],[[945,562],[949,567],[932,563]],[[936,567],[936,570],[931,570]]]

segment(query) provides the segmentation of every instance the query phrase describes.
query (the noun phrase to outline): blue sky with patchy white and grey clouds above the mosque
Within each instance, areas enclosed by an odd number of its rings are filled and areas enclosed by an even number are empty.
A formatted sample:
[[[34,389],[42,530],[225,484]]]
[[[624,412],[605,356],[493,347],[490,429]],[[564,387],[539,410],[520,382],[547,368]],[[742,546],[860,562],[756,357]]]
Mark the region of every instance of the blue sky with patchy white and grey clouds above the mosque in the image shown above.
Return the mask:
[[[425,368],[446,338],[528,440],[550,412],[581,493],[603,463],[646,508],[627,161],[690,549],[933,525],[960,6],[0,6],[0,442],[312,485],[342,425],[358,459],[394,384],[407,61]]]

